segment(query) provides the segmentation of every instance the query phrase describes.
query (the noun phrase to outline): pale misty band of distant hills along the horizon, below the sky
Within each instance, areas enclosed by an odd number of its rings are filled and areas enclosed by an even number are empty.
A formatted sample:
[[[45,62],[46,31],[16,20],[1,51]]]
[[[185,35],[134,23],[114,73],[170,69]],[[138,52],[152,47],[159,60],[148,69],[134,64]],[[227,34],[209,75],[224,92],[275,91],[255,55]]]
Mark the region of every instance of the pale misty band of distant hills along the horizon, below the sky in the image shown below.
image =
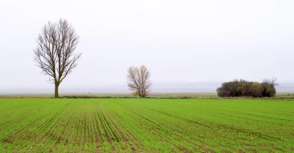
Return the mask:
[[[151,87],[151,93],[216,93],[221,82],[187,82],[187,83],[155,83]],[[294,82],[280,83],[276,87],[277,93],[294,93]],[[28,88],[6,88],[0,89],[1,94],[53,94],[54,86],[49,88],[28,87]],[[60,94],[127,94],[131,93],[126,85],[97,86],[97,87],[60,87]]]

